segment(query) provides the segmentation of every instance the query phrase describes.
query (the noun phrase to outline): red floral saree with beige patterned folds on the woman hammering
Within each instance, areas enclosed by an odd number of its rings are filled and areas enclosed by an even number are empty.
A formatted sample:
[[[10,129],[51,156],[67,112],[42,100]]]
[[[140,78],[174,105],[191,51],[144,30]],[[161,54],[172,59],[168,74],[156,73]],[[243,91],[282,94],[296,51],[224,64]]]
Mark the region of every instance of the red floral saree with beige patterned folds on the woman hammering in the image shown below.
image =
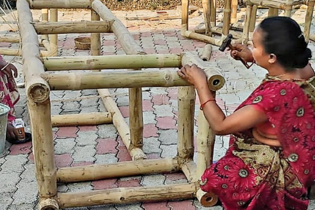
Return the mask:
[[[238,108],[258,105],[281,147],[261,144],[252,129],[230,137],[226,155],[205,170],[201,189],[218,195],[226,210],[306,210],[315,178],[315,77],[266,77]]]

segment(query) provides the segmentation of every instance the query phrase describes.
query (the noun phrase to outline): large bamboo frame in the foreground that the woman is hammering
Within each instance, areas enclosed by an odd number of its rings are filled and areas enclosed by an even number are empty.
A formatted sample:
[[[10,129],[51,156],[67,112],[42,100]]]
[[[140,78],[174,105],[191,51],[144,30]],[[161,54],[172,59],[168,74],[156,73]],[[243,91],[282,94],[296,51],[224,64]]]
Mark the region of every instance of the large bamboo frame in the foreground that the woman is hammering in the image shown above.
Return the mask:
[[[31,9],[43,9],[43,19],[47,20],[45,18],[47,8],[53,15],[56,14],[53,9],[91,9],[91,21],[89,23],[34,23]],[[199,184],[201,174],[212,162],[214,149],[214,133],[202,111],[198,115],[200,123],[198,129],[198,164],[193,162],[194,88],[181,79],[175,70],[141,71],[142,68],[180,68],[186,64],[196,64],[206,73],[209,88],[212,91],[217,91],[224,85],[225,80],[215,66],[211,66],[191,53],[145,54],[122,22],[99,0],[17,0],[17,10],[22,41],[21,53],[24,60],[23,71],[26,81],[27,105],[31,118],[39,210],[194,197],[198,198],[204,206],[213,206],[216,203],[217,197],[212,193],[200,190]],[[53,19],[57,20],[57,17],[55,16]],[[95,27],[97,24],[100,27]],[[55,26],[53,29],[50,28],[52,25]],[[61,27],[58,28],[59,26]],[[40,58],[39,33],[58,34],[83,31],[92,33],[92,55]],[[101,32],[113,32],[126,55],[100,55]],[[46,41],[48,44],[47,39]],[[51,35],[50,43],[55,44],[55,38]],[[54,47],[52,44],[49,45],[50,48]],[[208,58],[210,54],[211,48],[207,48],[205,56]],[[121,62],[122,60],[123,62]],[[80,71],[87,69],[93,71]],[[99,72],[100,69],[116,70]],[[55,72],[59,70],[78,71],[76,73]],[[51,71],[54,72],[51,73]],[[142,150],[141,87],[179,87],[178,146],[177,155],[174,158],[146,159]],[[98,89],[108,112],[51,116],[50,91],[91,88]],[[104,88],[130,88],[129,95],[133,95],[134,98],[129,98],[131,113],[129,125],[124,121],[108,89]],[[132,161],[56,168],[52,126],[95,125],[111,122],[117,128]],[[189,182],[87,192],[57,192],[57,182],[79,182],[177,171],[182,171]]]

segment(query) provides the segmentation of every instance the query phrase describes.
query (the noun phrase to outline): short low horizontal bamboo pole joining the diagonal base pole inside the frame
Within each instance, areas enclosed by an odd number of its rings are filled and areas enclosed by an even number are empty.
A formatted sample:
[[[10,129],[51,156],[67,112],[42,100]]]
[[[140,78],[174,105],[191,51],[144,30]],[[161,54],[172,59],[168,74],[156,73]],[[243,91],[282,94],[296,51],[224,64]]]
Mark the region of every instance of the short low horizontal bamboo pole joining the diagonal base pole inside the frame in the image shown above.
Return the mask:
[[[77,126],[77,125],[100,125],[112,122],[110,112],[92,112],[82,114],[52,115],[51,124],[53,127]]]

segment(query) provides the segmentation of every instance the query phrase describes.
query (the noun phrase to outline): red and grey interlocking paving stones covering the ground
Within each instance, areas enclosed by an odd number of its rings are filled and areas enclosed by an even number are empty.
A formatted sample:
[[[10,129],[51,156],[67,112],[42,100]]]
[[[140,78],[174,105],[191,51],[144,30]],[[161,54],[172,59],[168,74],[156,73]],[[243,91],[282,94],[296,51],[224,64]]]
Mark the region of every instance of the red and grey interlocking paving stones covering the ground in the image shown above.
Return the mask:
[[[175,10],[169,11],[176,14]],[[259,10],[262,17],[266,10]],[[34,19],[39,19],[40,11],[34,11]],[[88,11],[61,11],[60,20],[89,20]],[[115,12],[115,14],[129,26],[129,30],[137,43],[149,54],[155,53],[181,53],[192,51],[200,54],[205,43],[189,40],[180,35],[180,20],[148,23],[142,21],[128,21],[126,17],[131,13]],[[134,14],[152,15],[151,11],[136,11]],[[303,23],[305,11],[297,11],[293,18]],[[128,16],[129,15],[129,16]],[[222,16],[219,13],[218,16]],[[242,16],[241,13],[238,14]],[[7,15],[8,19],[12,18]],[[202,21],[202,16],[190,19],[192,27]],[[0,27],[0,33],[6,33],[8,24]],[[314,27],[312,27],[314,31]],[[88,34],[83,34],[86,36]],[[88,55],[88,50],[77,50],[74,47],[74,38],[78,35],[59,35],[59,55]],[[81,36],[81,35],[80,35]],[[3,48],[17,48],[18,44],[0,43]],[[313,43],[310,44],[315,50]],[[112,34],[102,34],[102,54],[124,54]],[[20,58],[5,56],[6,60],[14,60],[21,71]],[[211,63],[215,64],[226,78],[226,85],[217,95],[218,104],[226,112],[232,111],[251,93],[260,83],[266,71],[258,66],[247,70],[241,62],[232,60],[226,53],[213,47]],[[311,60],[315,63],[315,60]],[[21,73],[21,72],[20,72]],[[19,82],[23,79],[20,77]],[[143,88],[143,119],[144,119],[144,147],[143,150],[149,158],[174,157],[176,155],[176,121],[177,121],[177,88]],[[113,89],[112,93],[119,93],[116,102],[129,121],[128,89]],[[16,106],[17,117],[23,117],[29,126],[29,115],[26,107],[25,89],[20,89],[21,99]],[[83,91],[53,91],[51,93],[52,114],[72,114],[106,111],[99,98],[77,99],[62,101],[63,99],[76,99],[81,96],[95,96],[96,90]],[[199,103],[196,101],[196,111]],[[198,112],[197,112],[198,113]],[[40,114],[40,113],[39,113]],[[195,128],[197,132],[197,127]],[[111,163],[130,161],[130,156],[123,145],[117,130],[112,124],[84,127],[53,128],[55,141],[55,160],[57,167],[79,166],[86,164]],[[197,134],[197,133],[195,133]],[[7,145],[9,155],[0,158],[0,210],[31,210],[37,209],[37,183],[34,176],[34,160],[31,143],[22,145]],[[220,159],[228,147],[228,136],[218,136],[215,142],[214,160]],[[60,192],[74,192],[85,190],[110,189],[117,187],[153,186],[160,184],[175,184],[187,182],[182,173],[154,174],[148,176],[126,177],[121,179],[106,179],[101,181],[83,182],[76,184],[58,185]],[[73,208],[74,210],[221,210],[222,207],[201,207],[196,200],[163,201],[158,203],[135,203],[131,205],[110,205],[101,207]],[[311,201],[309,209],[315,209]]]

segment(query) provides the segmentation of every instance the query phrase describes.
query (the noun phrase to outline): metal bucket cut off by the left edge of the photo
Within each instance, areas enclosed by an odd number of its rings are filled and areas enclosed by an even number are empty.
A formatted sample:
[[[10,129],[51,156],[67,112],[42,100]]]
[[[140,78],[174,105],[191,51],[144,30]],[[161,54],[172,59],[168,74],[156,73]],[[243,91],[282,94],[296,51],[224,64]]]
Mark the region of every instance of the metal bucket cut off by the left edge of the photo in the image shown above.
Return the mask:
[[[5,156],[8,151],[5,150],[5,139],[8,125],[9,106],[0,104],[0,157]]]

